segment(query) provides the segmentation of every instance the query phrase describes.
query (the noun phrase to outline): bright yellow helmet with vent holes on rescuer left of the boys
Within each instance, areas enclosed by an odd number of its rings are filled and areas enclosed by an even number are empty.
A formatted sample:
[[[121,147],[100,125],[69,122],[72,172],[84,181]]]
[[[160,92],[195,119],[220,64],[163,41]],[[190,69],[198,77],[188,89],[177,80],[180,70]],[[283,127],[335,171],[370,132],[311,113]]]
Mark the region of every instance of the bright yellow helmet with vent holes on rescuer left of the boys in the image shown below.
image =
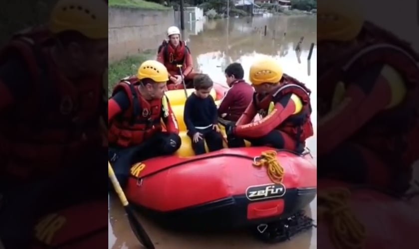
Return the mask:
[[[166,82],[169,80],[169,72],[162,63],[148,60],[138,68],[137,78],[139,80],[149,78],[155,82]]]

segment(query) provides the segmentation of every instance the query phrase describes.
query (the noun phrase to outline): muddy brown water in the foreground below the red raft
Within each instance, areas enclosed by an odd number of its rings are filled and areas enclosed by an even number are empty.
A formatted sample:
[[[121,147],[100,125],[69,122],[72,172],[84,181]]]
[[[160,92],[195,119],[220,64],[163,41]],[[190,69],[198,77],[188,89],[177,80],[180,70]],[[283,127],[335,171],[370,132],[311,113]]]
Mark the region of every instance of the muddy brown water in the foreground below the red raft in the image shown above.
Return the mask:
[[[111,197],[112,219],[110,222],[109,249],[143,249],[129,229],[124,210],[119,208],[116,197]],[[307,207],[306,214],[317,217],[317,198]],[[317,249],[317,230],[298,234],[281,244],[264,244],[253,238],[248,231],[222,233],[181,233],[159,228],[150,220],[139,216],[139,220],[155,243],[156,249]]]

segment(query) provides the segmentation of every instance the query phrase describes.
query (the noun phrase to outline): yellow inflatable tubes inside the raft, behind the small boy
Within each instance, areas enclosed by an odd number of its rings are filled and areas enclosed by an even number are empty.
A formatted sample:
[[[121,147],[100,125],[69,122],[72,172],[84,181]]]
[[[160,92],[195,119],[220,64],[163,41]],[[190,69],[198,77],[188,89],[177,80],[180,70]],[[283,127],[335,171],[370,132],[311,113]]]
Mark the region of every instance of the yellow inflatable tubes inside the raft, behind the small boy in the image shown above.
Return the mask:
[[[195,90],[194,89],[188,89],[188,96],[190,96]],[[216,92],[214,89],[211,90],[210,95],[215,99]],[[179,130],[180,130],[180,137],[182,139],[182,146],[178,149],[176,152],[176,155],[180,157],[192,157],[195,155],[194,150],[192,148],[192,140],[187,135],[187,129],[186,124],[184,122],[184,106],[185,106],[185,91],[182,90],[173,90],[166,92],[166,96],[169,98],[170,105],[172,107],[172,110],[175,114],[175,117],[179,124]],[[221,100],[215,101],[215,105],[219,105]],[[224,138],[226,138],[224,127],[220,125],[221,134]],[[250,146],[250,143],[248,141],[246,142],[246,146]],[[224,139],[223,142],[224,148],[227,148],[226,139]],[[207,143],[205,144],[205,148],[208,150]]]

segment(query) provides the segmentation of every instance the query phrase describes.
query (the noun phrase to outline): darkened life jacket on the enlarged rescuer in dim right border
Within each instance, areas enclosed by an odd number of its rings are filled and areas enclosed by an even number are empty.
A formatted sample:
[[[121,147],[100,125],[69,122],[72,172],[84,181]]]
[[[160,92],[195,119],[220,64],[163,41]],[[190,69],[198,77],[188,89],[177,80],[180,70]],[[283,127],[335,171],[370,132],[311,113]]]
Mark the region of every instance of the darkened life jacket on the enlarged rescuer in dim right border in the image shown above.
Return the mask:
[[[410,44],[369,22],[363,32],[374,39],[364,39],[351,49],[351,54],[334,59],[334,66],[320,78],[318,97],[325,106],[322,113],[330,110],[325,103],[331,103],[337,82],[348,84],[351,76],[362,75],[374,64],[395,68],[406,83],[405,100],[373,117],[352,139],[377,152],[389,163],[410,168],[419,159],[419,55]]]

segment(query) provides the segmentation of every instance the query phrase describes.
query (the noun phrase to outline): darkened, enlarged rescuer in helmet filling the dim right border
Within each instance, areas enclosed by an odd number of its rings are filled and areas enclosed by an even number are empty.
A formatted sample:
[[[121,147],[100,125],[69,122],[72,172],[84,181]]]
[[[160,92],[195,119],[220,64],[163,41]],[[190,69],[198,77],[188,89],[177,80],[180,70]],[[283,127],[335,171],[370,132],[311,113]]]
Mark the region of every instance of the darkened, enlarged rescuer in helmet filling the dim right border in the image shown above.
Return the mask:
[[[354,0],[318,1],[317,32],[319,177],[404,193],[419,159],[418,54]]]

